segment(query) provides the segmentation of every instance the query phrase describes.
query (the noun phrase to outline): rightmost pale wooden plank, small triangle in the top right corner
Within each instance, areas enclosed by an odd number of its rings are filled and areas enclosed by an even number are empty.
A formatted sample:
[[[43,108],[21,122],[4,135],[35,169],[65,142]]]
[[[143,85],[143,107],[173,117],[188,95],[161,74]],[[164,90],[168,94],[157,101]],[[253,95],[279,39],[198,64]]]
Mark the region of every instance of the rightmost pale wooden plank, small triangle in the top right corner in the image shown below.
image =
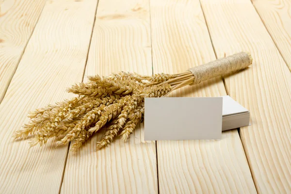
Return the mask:
[[[277,49],[291,70],[291,1],[252,1]]]

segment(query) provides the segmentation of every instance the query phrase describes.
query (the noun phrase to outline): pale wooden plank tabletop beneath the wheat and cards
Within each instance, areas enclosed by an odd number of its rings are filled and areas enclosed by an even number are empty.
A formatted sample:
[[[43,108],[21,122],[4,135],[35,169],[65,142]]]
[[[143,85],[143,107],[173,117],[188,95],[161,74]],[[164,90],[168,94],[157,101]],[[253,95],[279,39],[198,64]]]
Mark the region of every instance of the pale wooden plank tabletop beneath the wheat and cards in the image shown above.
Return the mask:
[[[291,193],[290,0],[0,1],[0,193]],[[77,153],[12,134],[86,76],[178,73],[239,51],[253,65],[172,94],[251,113],[221,141],[129,141]],[[289,67],[289,68],[288,68]]]

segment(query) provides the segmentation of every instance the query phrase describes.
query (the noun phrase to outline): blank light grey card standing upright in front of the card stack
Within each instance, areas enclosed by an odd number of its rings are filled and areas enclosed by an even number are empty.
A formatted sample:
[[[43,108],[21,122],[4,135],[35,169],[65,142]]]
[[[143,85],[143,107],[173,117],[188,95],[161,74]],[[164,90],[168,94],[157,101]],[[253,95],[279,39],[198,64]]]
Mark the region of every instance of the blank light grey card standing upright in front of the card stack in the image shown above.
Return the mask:
[[[217,140],[222,97],[145,98],[145,140]]]

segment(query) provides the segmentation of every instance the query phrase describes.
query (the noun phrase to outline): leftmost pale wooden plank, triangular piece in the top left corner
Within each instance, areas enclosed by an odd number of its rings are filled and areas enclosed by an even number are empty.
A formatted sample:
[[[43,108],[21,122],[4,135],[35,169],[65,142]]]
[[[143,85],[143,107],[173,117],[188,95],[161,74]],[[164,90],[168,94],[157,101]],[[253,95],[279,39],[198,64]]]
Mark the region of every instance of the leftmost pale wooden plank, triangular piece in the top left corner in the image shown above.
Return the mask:
[[[0,0],[0,102],[46,0]]]

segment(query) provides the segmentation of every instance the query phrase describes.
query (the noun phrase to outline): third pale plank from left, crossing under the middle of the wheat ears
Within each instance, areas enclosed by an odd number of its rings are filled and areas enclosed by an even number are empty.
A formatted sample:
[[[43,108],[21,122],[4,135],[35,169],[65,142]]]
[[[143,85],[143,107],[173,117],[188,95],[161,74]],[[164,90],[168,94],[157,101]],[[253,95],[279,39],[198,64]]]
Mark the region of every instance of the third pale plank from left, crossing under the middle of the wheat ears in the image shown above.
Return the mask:
[[[151,74],[148,0],[99,0],[85,76],[130,71]],[[86,81],[86,79],[85,79]],[[158,193],[155,143],[137,127],[96,151],[102,132],[69,153],[61,193]]]

